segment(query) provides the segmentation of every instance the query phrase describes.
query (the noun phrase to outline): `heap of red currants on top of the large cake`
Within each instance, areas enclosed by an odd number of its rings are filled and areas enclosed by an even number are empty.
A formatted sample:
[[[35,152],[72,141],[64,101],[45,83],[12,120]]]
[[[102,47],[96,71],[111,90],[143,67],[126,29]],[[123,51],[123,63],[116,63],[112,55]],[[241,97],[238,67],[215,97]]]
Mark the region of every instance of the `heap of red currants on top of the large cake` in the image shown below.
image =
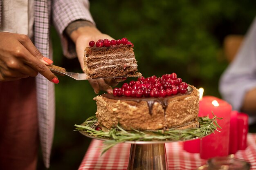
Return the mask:
[[[177,93],[186,93],[188,84],[177,78],[176,73],[155,75],[145,78],[139,77],[137,81],[124,83],[121,88],[114,88],[114,96],[126,97],[166,97]]]

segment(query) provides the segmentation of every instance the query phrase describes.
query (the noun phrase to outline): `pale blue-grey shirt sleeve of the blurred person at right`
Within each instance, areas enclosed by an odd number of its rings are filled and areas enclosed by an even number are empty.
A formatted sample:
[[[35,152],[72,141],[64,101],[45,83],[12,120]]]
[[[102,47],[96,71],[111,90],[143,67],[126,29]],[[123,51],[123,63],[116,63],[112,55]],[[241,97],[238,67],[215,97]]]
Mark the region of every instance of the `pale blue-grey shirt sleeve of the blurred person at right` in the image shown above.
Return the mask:
[[[233,110],[240,110],[247,91],[256,87],[256,18],[233,62],[220,77],[219,90]]]

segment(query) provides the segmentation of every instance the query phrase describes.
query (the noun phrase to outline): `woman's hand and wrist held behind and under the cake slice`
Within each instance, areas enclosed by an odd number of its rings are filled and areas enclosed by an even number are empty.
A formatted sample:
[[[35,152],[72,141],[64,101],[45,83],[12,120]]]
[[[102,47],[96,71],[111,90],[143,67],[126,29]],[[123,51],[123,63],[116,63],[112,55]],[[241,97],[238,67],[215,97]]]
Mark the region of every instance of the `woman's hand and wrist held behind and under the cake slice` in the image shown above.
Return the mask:
[[[76,26],[78,26],[76,28]],[[72,30],[72,32],[70,31]],[[108,40],[113,40],[107,34],[101,33],[91,22],[88,21],[75,21],[70,26],[67,27],[66,33],[70,35],[70,38],[76,44],[76,53],[78,60],[80,62],[81,68],[84,67],[83,57],[84,57],[84,49],[89,46],[90,41],[97,42],[97,40],[104,40],[107,38]],[[94,89],[96,94],[99,91],[106,91],[108,93],[112,92],[112,87],[117,86],[119,82],[123,82],[125,79],[117,78],[117,79],[90,79],[89,82]]]

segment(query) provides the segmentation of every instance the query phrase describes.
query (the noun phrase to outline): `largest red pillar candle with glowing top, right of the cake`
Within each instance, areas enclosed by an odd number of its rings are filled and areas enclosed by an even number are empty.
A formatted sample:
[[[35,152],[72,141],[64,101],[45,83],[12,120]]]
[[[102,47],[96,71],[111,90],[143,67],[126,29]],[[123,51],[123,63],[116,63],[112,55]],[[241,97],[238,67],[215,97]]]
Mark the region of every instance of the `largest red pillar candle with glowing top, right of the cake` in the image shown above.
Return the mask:
[[[225,157],[229,154],[229,128],[230,114],[232,107],[222,99],[213,96],[204,96],[199,102],[199,116],[207,116],[212,118],[212,112],[217,117],[222,117],[217,120],[221,132],[215,133],[202,138],[200,142],[200,157],[209,159],[212,157]]]

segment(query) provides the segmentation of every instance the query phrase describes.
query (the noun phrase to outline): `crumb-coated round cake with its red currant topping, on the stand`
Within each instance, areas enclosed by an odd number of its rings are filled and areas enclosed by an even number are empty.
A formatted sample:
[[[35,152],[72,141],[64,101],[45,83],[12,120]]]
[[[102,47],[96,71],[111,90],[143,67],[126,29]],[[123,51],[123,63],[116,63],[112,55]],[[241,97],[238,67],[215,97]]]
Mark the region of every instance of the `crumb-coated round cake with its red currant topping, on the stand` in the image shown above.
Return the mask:
[[[175,73],[140,77],[94,97],[99,127],[125,130],[198,128],[199,92]]]

